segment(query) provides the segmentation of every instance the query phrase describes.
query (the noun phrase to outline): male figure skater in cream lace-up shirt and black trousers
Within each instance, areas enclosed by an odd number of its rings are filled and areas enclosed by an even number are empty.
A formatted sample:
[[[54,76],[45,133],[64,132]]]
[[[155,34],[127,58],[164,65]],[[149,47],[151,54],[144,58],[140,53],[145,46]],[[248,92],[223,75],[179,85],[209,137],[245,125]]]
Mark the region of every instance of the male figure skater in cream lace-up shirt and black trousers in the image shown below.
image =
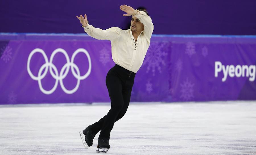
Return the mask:
[[[127,5],[121,5],[120,9],[131,16],[131,27],[122,30],[118,27],[111,27],[106,30],[95,28],[89,25],[86,14],[77,18],[82,23],[84,31],[93,38],[99,40],[110,40],[112,46],[112,59],[115,66],[112,67],[106,76],[106,85],[111,100],[111,108],[106,116],[98,122],[89,125],[80,136],[84,145],[92,146],[92,140],[100,132],[98,139],[98,150],[105,153],[110,148],[110,131],[114,122],[121,119],[129,106],[131,91],[136,72],[141,67],[150,44],[153,33],[153,23],[146,11],[134,10]],[[83,135],[85,138],[83,139]],[[103,150],[100,150],[103,149]]]

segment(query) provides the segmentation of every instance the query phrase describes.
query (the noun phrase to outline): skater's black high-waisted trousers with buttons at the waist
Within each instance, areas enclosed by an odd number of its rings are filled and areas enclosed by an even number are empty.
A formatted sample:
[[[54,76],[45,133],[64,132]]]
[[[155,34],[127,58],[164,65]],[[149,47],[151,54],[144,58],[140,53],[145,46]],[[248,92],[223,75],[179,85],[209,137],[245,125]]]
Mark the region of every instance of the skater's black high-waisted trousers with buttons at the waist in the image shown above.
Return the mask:
[[[108,71],[106,85],[111,100],[111,108],[107,115],[92,125],[92,130],[95,132],[101,131],[99,139],[106,138],[109,140],[114,123],[126,113],[130,103],[135,74],[117,64]]]

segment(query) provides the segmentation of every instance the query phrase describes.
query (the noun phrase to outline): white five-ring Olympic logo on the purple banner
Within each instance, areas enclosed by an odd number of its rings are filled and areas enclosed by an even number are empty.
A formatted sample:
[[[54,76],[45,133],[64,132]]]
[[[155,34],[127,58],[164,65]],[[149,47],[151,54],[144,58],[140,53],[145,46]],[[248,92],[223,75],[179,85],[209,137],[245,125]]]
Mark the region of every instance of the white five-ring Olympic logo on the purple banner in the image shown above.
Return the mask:
[[[44,60],[45,60],[45,64],[43,64],[43,65],[40,67],[40,69],[39,69],[38,76],[34,76],[34,75],[32,74],[32,72],[31,72],[31,70],[30,70],[30,60],[31,60],[32,56],[34,55],[34,53],[36,53],[36,52],[41,53],[41,54],[43,55],[43,57],[44,57]],[[67,60],[67,63],[61,68],[60,73],[58,73],[58,70],[57,70],[56,66],[52,63],[53,57],[54,57],[55,54],[58,53],[58,52],[63,53],[63,54],[65,55],[65,57],[66,57],[66,60]],[[78,66],[74,63],[75,56],[76,56],[79,52],[84,53],[84,54],[87,56],[88,62],[89,62],[88,71],[87,71],[86,74],[84,74],[83,76],[80,76],[80,70],[79,70]],[[44,68],[45,68],[45,70],[44,70]],[[75,88],[72,89],[72,90],[67,90],[67,89],[65,88],[65,86],[63,85],[63,81],[62,81],[62,80],[67,76],[67,74],[68,74],[68,72],[69,72],[69,68],[71,68],[71,72],[72,72],[73,76],[74,76],[75,78],[77,78],[77,85],[76,85]],[[92,63],[91,63],[90,55],[89,55],[88,51],[86,51],[86,49],[84,49],[84,48],[79,48],[79,49],[77,49],[77,50],[73,53],[73,55],[72,55],[72,57],[71,57],[71,61],[69,60],[69,56],[68,56],[67,52],[66,52],[64,49],[62,49],[62,48],[57,48],[57,49],[55,49],[55,50],[53,51],[53,53],[51,54],[50,62],[48,61],[48,58],[47,58],[47,56],[46,56],[44,50],[42,50],[42,49],[40,49],[40,48],[36,48],[36,49],[34,49],[33,51],[31,51],[31,53],[29,54],[29,56],[28,56],[28,63],[27,63],[28,74],[30,75],[30,77],[31,77],[33,80],[37,80],[37,81],[38,81],[39,88],[40,88],[40,90],[41,90],[44,94],[51,94],[51,93],[53,93],[53,92],[56,90],[56,88],[57,88],[58,82],[60,83],[61,88],[62,88],[62,90],[63,90],[65,93],[67,93],[67,94],[73,94],[74,92],[77,91],[77,89],[78,89],[78,87],[79,87],[79,85],[80,85],[80,80],[83,80],[83,79],[87,78],[87,77],[90,75],[90,73],[91,73],[91,68],[92,68]],[[48,72],[48,69],[50,69],[50,74],[51,74],[51,76],[52,76],[56,81],[55,81],[55,84],[54,84],[53,88],[52,88],[51,90],[49,90],[49,91],[46,91],[46,90],[42,87],[41,80],[46,76],[46,74],[47,74],[47,72]],[[53,73],[53,70],[52,70],[52,69],[54,70],[55,74]],[[66,71],[64,72],[65,69],[66,69]],[[76,70],[77,73],[75,72],[74,69]],[[43,70],[44,70],[44,73],[42,73]]]

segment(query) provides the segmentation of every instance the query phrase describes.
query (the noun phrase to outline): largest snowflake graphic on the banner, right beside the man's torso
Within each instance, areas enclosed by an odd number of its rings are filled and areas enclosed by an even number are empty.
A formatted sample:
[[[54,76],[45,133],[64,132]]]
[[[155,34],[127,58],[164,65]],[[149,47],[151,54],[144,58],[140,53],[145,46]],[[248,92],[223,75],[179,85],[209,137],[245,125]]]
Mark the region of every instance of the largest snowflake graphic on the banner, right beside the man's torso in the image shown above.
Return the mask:
[[[155,76],[155,68],[157,67],[158,71],[161,73],[161,64],[166,65],[164,62],[164,58],[168,55],[166,46],[169,46],[168,43],[160,43],[160,42],[151,42],[148,48],[146,57],[142,65],[147,66],[146,73],[152,68],[153,76]]]

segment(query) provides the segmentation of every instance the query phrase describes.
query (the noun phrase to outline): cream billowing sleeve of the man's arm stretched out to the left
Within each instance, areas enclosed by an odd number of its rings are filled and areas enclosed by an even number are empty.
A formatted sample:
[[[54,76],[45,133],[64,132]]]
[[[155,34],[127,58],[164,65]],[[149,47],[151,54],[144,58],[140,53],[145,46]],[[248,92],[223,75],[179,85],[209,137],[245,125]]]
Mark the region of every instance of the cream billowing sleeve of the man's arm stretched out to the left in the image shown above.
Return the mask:
[[[110,27],[109,29],[102,30],[92,25],[89,25],[89,21],[87,25],[84,27],[84,32],[86,32],[89,36],[98,39],[98,40],[115,40],[121,35],[121,30],[119,27]]]

